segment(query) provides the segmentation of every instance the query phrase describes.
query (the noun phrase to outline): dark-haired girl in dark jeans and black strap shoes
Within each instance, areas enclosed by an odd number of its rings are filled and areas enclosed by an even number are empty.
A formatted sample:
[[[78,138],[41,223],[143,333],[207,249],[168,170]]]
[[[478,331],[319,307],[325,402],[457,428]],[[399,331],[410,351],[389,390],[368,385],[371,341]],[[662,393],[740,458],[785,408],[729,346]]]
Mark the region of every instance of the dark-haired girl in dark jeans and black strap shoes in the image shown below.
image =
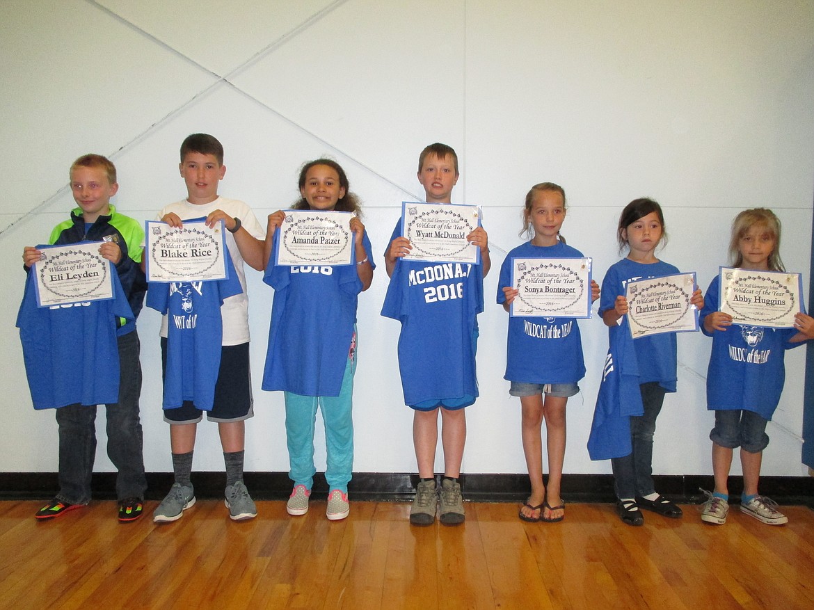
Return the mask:
[[[667,242],[661,206],[649,198],[635,199],[624,207],[616,231],[619,252],[628,256],[611,265],[602,280],[599,315],[609,333],[628,333],[620,326],[628,313],[625,288],[628,281],[675,275],[679,270],[656,258],[656,248]],[[690,299],[703,307],[701,290]],[[676,333],[661,333],[633,339],[639,370],[639,390],[644,413],[630,417],[632,452],[610,460],[616,490],[616,511],[627,525],[644,524],[639,508],[677,519],[681,508],[660,495],[653,483],[653,434],[666,392],[676,391]]]

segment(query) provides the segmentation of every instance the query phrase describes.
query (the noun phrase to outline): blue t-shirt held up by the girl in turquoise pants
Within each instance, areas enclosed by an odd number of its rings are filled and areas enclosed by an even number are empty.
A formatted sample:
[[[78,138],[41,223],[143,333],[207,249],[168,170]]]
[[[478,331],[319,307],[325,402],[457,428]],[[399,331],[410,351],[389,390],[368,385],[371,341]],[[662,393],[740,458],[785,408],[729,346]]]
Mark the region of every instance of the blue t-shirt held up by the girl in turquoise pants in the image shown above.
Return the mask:
[[[362,245],[376,268],[367,232]],[[263,277],[274,288],[263,390],[339,396],[362,289],[357,265],[287,267],[274,260],[273,252]]]

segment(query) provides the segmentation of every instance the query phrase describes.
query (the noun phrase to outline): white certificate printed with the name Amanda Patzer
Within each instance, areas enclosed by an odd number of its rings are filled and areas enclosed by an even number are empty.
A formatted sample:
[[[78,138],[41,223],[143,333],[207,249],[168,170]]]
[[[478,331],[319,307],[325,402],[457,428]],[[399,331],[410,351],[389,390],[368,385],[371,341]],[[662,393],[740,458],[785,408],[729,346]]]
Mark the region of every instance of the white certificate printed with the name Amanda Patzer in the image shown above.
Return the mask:
[[[277,264],[351,264],[352,218],[349,211],[287,210],[277,231]]]

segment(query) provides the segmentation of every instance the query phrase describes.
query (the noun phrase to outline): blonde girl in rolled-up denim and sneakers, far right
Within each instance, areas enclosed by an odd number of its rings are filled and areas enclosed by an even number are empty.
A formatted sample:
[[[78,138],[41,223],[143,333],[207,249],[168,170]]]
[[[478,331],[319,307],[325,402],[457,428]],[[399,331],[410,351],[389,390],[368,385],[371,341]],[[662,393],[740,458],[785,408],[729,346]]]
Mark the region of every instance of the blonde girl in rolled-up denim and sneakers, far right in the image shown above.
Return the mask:
[[[780,259],[780,220],[763,207],[742,211],[732,224],[729,259],[733,267],[783,272]],[[741,448],[743,493],[741,510],[769,525],[787,523],[777,503],[758,495],[763,450],[768,445],[766,424],[786,378],[785,351],[814,338],[814,319],[794,316],[793,329],[733,324],[732,316],[719,312],[720,277],[710,283],[701,312],[702,331],[712,338],[707,372],[707,409],[715,411],[712,472],[715,491],[707,493],[702,521],[723,525],[729,512],[727,479],[733,449]]]

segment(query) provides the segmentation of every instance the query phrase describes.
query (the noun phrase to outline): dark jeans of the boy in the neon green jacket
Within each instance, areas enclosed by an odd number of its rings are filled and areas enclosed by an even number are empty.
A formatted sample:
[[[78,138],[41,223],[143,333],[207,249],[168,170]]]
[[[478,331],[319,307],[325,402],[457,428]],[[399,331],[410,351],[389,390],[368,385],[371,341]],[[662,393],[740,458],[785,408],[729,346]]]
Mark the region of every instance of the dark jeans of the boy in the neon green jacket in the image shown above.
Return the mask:
[[[116,466],[116,497],[143,499],[147,490],[138,399],[142,367],[135,330],[118,338],[119,402],[107,404],[107,456]],[[103,375],[100,371],[98,374]],[[96,457],[96,407],[72,404],[56,410],[59,424],[59,494],[69,504],[90,502],[90,478]]]

